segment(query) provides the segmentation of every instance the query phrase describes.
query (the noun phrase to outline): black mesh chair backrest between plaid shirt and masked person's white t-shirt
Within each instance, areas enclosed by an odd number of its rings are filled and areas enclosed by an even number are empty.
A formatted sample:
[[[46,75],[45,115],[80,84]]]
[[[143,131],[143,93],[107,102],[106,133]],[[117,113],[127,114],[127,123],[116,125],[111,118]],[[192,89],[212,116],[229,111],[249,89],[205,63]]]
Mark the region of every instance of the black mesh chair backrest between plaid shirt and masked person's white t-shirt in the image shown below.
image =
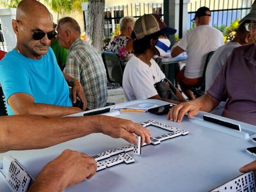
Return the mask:
[[[123,83],[122,61],[118,54],[112,52],[102,52],[101,54],[109,83]]]

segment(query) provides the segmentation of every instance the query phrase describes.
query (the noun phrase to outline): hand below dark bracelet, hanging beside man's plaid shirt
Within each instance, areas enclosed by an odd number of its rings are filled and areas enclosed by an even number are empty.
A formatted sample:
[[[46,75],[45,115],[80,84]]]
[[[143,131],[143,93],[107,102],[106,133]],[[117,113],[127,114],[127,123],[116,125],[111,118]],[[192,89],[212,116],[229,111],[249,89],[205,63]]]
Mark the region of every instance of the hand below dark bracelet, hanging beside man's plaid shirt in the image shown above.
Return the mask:
[[[81,100],[83,103],[83,111],[86,110],[87,107],[87,100],[85,98],[84,89],[79,81],[74,81],[73,87],[72,87],[72,98],[73,103],[76,103],[76,96]]]

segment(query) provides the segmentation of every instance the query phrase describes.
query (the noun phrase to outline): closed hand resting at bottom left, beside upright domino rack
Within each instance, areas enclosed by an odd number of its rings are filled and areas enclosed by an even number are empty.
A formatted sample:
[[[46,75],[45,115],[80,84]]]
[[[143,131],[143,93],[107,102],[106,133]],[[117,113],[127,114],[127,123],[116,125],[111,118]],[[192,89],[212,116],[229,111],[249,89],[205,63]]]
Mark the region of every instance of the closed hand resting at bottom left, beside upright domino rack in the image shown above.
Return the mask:
[[[55,191],[55,187],[57,189],[57,186],[61,186],[62,191],[85,178],[91,179],[96,170],[97,164],[94,158],[84,153],[66,149],[60,156],[45,165],[30,190],[37,191],[51,186],[52,191]]]

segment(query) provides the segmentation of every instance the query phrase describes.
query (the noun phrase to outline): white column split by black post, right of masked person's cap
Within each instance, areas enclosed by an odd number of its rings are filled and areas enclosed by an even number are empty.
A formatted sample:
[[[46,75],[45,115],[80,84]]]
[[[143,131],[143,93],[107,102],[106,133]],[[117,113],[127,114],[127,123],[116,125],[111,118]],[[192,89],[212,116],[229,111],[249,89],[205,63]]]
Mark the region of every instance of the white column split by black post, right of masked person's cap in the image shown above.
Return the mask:
[[[182,35],[187,31],[187,20],[188,20],[188,3],[190,0],[183,0],[183,19],[182,19]],[[179,14],[180,14],[180,0],[175,0],[175,29],[179,34]]]

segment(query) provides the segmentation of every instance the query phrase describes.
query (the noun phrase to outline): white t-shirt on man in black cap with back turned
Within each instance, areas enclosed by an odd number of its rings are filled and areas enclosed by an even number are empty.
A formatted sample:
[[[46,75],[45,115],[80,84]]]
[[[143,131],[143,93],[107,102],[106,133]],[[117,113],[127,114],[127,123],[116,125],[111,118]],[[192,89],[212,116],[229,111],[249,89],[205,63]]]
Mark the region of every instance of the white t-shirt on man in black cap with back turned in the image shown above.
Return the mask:
[[[223,34],[209,25],[188,31],[178,44],[188,54],[184,76],[190,79],[201,77],[207,54],[223,44]]]

